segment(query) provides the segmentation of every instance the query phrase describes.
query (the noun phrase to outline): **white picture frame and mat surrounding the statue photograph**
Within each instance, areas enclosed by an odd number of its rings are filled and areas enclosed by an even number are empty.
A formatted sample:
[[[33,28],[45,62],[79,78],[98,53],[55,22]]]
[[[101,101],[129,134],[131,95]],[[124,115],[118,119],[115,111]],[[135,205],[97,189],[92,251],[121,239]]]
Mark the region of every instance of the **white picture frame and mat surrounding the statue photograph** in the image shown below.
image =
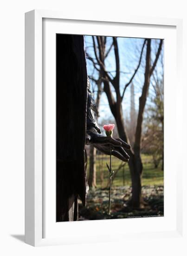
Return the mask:
[[[49,207],[45,205],[52,203],[52,201],[48,201],[48,198],[45,198],[45,182],[49,182],[44,179],[44,141],[45,135],[43,133],[45,129],[45,108],[47,107],[43,103],[44,95],[44,63],[43,58],[45,55],[44,47],[44,38],[45,38],[45,29],[44,29],[44,20],[50,19],[54,22],[59,21],[64,22],[57,27],[57,23],[54,26],[48,26],[48,39],[52,38],[50,33],[54,34],[55,29],[59,29],[55,33],[69,33],[69,34],[88,34],[88,30],[92,27],[92,32],[94,33],[94,29],[102,27],[105,29],[109,26],[116,28],[118,26],[131,26],[131,27],[144,27],[149,26],[149,31],[154,34],[154,29],[161,30],[164,26],[168,27],[168,30],[172,30],[171,38],[173,36],[176,41],[173,41],[171,49],[176,52],[176,56],[174,57],[174,63],[170,63],[172,74],[171,78],[169,75],[166,75],[166,84],[170,83],[171,88],[173,88],[173,92],[170,92],[166,95],[165,102],[167,106],[171,106],[171,109],[168,107],[168,122],[166,122],[165,133],[171,124],[171,119],[174,119],[176,125],[170,128],[170,133],[173,132],[173,139],[176,141],[178,145],[180,145],[181,140],[178,136],[183,133],[183,129],[181,126],[183,119],[183,108],[181,103],[181,98],[183,96],[183,88],[182,88],[182,79],[181,79],[181,70],[182,70],[182,20],[180,19],[160,19],[153,17],[133,17],[133,16],[125,16],[118,17],[118,19],[110,18],[109,20],[103,20],[100,17],[95,17],[94,20],[90,19],[89,16],[85,13],[84,17],[79,17],[78,14],[76,17],[69,17],[68,14],[64,14],[56,11],[42,11],[42,10],[33,10],[31,12],[26,13],[26,173],[25,173],[25,239],[26,243],[31,244],[33,246],[42,246],[42,245],[54,245],[54,244],[70,244],[70,243],[89,243],[89,242],[110,242],[110,241],[119,241],[121,239],[129,239],[129,237],[133,236],[134,239],[138,239],[138,237],[143,236],[146,238],[156,238],[156,237],[173,237],[173,238],[183,238],[184,234],[184,221],[183,221],[183,197],[181,196],[184,193],[182,182],[183,182],[183,171],[184,166],[182,162],[177,164],[176,171],[176,160],[174,159],[174,153],[172,153],[172,141],[170,140],[170,135],[166,136],[166,140],[168,140],[168,156],[166,155],[166,160],[168,159],[168,169],[174,169],[174,171],[170,174],[170,184],[174,186],[174,189],[171,189],[170,186],[166,185],[165,198],[168,201],[168,204],[164,204],[164,207],[168,207],[168,210],[171,211],[171,204],[169,204],[169,195],[173,196],[173,213],[171,216],[166,216],[159,218],[144,218],[144,219],[131,219],[131,220],[103,220],[103,221],[88,221],[88,222],[58,222],[58,227],[52,220],[51,216],[53,216],[54,208],[52,215],[48,214],[49,217],[46,217],[45,211],[50,211]],[[76,28],[77,32],[75,32],[75,24],[79,24]],[[71,26],[73,25],[73,26]],[[89,26],[88,26],[89,25]],[[87,27],[86,27],[87,26]],[[46,26],[45,26],[46,27]],[[104,30],[103,30],[104,31]],[[120,29],[118,29],[120,31]],[[102,29],[98,33],[103,33]],[[107,30],[106,30],[107,33]],[[119,32],[120,33],[120,32]],[[160,33],[160,32],[159,32]],[[164,33],[164,32],[161,32]],[[151,34],[151,35],[152,35]],[[156,33],[155,33],[156,34]],[[102,34],[105,35],[105,34]],[[108,34],[106,34],[108,35]],[[146,35],[146,34],[145,34]],[[142,37],[145,35],[142,34]],[[124,34],[122,34],[124,36]],[[127,36],[127,34],[126,34]],[[130,36],[130,34],[128,34]],[[153,37],[153,36],[151,36]],[[167,37],[167,36],[166,36]],[[165,36],[163,36],[165,38]],[[169,39],[169,37],[168,37]],[[50,40],[49,40],[50,41]],[[54,44],[54,42],[52,42]],[[169,47],[169,44],[168,44]],[[170,51],[171,51],[170,49]],[[51,58],[54,57],[54,54]],[[166,49],[166,58],[169,67],[169,50],[167,53]],[[53,58],[54,59],[54,58]],[[50,63],[51,59],[45,58],[47,63]],[[175,65],[176,63],[176,65]],[[54,81],[54,70],[53,69],[53,81]],[[168,72],[168,73],[167,73]],[[169,71],[166,70],[166,74],[169,74]],[[51,75],[52,77],[52,75]],[[176,77],[178,82],[177,90],[174,87],[174,81],[176,81]],[[168,80],[167,80],[168,79]],[[171,79],[171,81],[169,80]],[[49,93],[48,93],[49,94]],[[172,103],[173,102],[173,103]],[[55,102],[53,102],[55,104]],[[53,106],[54,106],[53,104]],[[172,105],[171,105],[172,104]],[[170,111],[170,112],[169,112]],[[172,111],[174,115],[172,116]],[[54,113],[51,113],[54,115]],[[51,116],[52,117],[52,116]],[[168,125],[167,125],[168,123]],[[167,139],[168,138],[168,139]],[[45,146],[49,146],[49,144],[45,144]],[[49,148],[49,147],[48,147]],[[170,148],[170,149],[169,149]],[[169,155],[170,154],[170,155]],[[172,164],[169,165],[169,157],[172,159]],[[170,161],[171,162],[171,161]],[[167,174],[167,171],[166,171]],[[169,175],[169,172],[168,174]],[[54,180],[54,176],[50,177],[51,180]],[[172,183],[173,182],[173,183]],[[55,190],[55,184],[52,183],[53,192]],[[53,193],[54,194],[54,193]],[[167,199],[168,196],[168,199]],[[54,197],[51,197],[54,199]],[[52,200],[53,200],[52,199]],[[47,203],[45,202],[47,200]],[[49,199],[50,200],[50,199]],[[166,211],[167,212],[167,211]],[[169,214],[168,214],[169,215]],[[157,221],[157,220],[158,221]],[[128,223],[127,223],[128,221]],[[154,227],[151,227],[151,223],[154,222]],[[125,230],[120,229],[122,225],[125,223]],[[110,224],[110,225],[109,225]],[[44,228],[45,226],[49,226],[50,229],[47,232],[47,237],[45,237]],[[102,227],[101,231],[97,232],[98,227]],[[134,228],[130,230],[130,226]],[[57,229],[56,229],[57,227]],[[86,230],[90,227],[92,229],[92,234],[86,232]],[[94,227],[96,227],[94,229]],[[70,229],[70,232],[67,232]],[[66,230],[65,235],[60,234],[60,230]],[[74,230],[75,236],[72,236],[72,231]],[[112,230],[112,235],[109,232]],[[77,236],[77,231],[80,232],[80,235]],[[115,236],[114,236],[115,234]],[[115,238],[114,238],[115,237]]]

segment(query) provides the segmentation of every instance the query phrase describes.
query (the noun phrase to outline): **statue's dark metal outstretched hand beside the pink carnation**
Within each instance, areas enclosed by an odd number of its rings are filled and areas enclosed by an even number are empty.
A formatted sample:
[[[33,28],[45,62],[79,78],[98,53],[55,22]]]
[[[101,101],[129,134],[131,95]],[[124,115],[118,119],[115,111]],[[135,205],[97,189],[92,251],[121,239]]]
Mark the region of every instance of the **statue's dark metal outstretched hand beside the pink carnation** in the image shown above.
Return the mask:
[[[112,137],[106,137],[90,132],[86,137],[86,144],[93,144],[95,148],[106,155],[110,155],[110,150],[112,148],[112,155],[123,162],[129,161],[129,155],[125,150],[129,150],[130,145],[120,138],[114,139]]]

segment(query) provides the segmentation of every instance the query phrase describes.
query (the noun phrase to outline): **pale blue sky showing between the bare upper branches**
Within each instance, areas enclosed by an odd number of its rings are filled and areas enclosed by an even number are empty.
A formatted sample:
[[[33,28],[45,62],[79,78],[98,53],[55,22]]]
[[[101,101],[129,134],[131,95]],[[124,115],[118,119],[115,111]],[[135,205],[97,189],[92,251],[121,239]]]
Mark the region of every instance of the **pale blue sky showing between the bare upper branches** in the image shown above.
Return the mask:
[[[92,47],[92,38],[91,36],[85,36],[85,48],[86,51],[94,57],[93,47]],[[154,59],[155,57],[155,51],[158,47],[158,41],[156,39],[152,40],[151,48],[152,48],[152,57]],[[107,47],[110,47],[110,44],[112,42],[112,38],[107,38]],[[142,45],[144,42],[144,39],[142,38],[125,38],[125,37],[118,37],[118,48],[119,48],[119,56],[120,56],[120,70],[124,72],[125,74],[120,74],[120,89],[121,94],[124,88],[124,85],[129,81],[130,77],[134,73],[135,68],[137,67],[140,51],[142,49]],[[145,50],[146,47],[144,47],[143,56],[142,56],[142,65],[139,68],[139,71],[135,75],[135,78],[133,80],[134,88],[135,88],[135,108],[138,110],[138,104],[139,104],[139,97],[141,95],[142,91],[142,85],[144,81],[144,64],[145,64]],[[162,47],[162,54],[160,56],[160,60],[157,63],[157,70],[158,73],[162,73],[162,67],[161,67],[161,58],[163,57],[163,47]],[[115,71],[116,64],[115,64],[115,56],[114,56],[114,49],[112,48],[110,51],[110,54],[108,55],[106,62],[106,70],[107,71]],[[88,75],[93,74],[93,66],[92,62],[87,60],[87,70]],[[115,76],[115,72],[112,73]],[[94,75],[97,77],[97,71],[94,71]],[[96,88],[96,87],[95,87]],[[91,88],[93,90],[93,88]],[[114,89],[113,89],[114,91]],[[151,93],[151,86],[149,88],[149,93]],[[115,93],[113,93],[115,96]],[[130,86],[127,88],[124,98],[123,98],[123,116],[129,115],[129,107],[130,107]],[[100,113],[100,119],[106,119],[106,118],[112,118],[112,114],[110,112],[109,104],[106,98],[105,93],[103,92],[101,96],[101,102],[99,107],[99,113]]]

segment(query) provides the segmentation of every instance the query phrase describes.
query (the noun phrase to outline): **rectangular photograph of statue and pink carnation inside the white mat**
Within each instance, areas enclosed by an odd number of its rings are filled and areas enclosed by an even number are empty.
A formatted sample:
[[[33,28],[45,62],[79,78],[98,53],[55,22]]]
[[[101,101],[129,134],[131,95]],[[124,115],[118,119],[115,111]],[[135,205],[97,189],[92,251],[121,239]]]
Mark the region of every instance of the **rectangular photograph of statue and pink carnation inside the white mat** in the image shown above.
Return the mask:
[[[164,216],[164,40],[56,34],[56,222]]]

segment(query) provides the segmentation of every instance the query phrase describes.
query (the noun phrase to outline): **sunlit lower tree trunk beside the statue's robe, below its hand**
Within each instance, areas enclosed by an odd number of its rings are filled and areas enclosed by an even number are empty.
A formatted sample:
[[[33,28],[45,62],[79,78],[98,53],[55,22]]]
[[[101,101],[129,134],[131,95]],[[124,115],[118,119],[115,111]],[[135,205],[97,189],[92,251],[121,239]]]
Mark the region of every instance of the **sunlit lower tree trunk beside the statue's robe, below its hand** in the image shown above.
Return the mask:
[[[90,188],[96,188],[96,148],[90,145],[90,167],[88,185]]]

